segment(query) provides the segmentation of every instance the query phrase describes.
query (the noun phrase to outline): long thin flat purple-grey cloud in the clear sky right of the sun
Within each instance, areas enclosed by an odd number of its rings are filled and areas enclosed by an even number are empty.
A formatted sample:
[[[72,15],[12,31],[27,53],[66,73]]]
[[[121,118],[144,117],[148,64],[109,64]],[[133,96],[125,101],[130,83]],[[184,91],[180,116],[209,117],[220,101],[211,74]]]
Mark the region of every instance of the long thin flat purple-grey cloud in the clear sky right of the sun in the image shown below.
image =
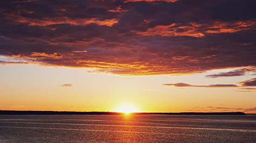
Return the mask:
[[[175,84],[162,84],[163,86],[174,86],[174,87],[237,87],[234,84],[214,84],[207,86],[190,85],[187,83],[175,83]]]

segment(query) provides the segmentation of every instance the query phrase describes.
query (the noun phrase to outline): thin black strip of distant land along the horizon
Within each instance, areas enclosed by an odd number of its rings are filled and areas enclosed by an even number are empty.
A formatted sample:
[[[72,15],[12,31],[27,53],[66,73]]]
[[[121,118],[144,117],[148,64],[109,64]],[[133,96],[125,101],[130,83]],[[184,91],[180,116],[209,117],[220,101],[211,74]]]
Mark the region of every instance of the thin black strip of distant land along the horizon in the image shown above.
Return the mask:
[[[70,112],[70,111],[11,111],[0,110],[0,115],[122,115],[122,112]],[[246,115],[244,112],[135,112],[133,115]]]

